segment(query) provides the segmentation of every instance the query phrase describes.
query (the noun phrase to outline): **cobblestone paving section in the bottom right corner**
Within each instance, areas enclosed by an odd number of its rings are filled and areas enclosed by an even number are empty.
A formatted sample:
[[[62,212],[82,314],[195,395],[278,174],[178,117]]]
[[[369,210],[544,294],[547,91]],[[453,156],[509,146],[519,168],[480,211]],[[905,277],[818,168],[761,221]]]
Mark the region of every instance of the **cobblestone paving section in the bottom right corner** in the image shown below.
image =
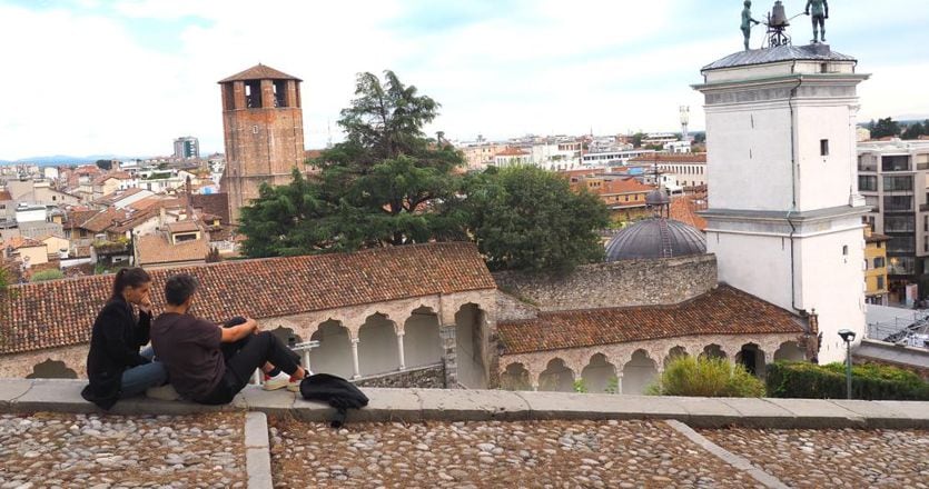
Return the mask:
[[[925,430],[733,428],[701,435],[791,487],[929,487]]]

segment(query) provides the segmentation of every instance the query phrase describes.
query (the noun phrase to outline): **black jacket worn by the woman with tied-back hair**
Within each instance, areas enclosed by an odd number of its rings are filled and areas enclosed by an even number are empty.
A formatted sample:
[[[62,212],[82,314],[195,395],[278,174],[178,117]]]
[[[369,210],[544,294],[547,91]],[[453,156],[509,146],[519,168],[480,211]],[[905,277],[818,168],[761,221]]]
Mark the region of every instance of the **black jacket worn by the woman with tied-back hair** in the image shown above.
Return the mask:
[[[119,399],[122,372],[149,360],[139,355],[139,348],[148,343],[151,315],[139,311],[121,296],[110,299],[93,321],[90,333],[90,352],[87,355],[87,377],[90,385],[81,396],[90,402],[110,409]]]

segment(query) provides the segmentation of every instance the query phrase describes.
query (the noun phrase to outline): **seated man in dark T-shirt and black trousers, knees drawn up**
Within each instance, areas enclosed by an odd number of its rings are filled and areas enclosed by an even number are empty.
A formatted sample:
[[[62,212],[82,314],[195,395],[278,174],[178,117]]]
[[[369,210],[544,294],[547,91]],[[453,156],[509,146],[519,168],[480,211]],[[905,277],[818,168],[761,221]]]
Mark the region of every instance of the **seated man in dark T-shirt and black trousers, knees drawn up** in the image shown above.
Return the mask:
[[[258,332],[254,319],[221,328],[190,315],[197,286],[187,273],[169,278],[165,312],[151,326],[155,355],[167,366],[178,393],[205,405],[230,402],[255,369],[267,363],[288,373],[288,389],[298,390],[306,377],[299,357],[270,332]]]

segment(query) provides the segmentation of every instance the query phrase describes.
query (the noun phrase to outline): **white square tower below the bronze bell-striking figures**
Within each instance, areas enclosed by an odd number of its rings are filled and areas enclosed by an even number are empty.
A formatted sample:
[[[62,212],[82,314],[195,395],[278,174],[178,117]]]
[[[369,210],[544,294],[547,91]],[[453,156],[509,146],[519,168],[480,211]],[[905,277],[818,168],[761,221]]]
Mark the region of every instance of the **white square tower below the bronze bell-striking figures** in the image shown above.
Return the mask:
[[[719,279],[816,313],[820,363],[844,360],[840,329],[864,333],[857,61],[827,44],[738,52],[703,68],[706,251]]]

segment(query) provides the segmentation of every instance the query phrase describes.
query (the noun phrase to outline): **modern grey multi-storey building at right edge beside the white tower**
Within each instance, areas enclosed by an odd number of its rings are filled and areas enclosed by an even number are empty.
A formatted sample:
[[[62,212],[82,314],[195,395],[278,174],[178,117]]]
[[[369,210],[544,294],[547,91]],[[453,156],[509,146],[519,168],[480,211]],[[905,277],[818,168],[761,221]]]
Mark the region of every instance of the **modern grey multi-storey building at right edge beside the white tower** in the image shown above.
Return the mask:
[[[918,283],[929,295],[929,141],[858,143],[858,188],[868,203],[864,222],[887,234],[889,298],[907,302],[906,288]]]

